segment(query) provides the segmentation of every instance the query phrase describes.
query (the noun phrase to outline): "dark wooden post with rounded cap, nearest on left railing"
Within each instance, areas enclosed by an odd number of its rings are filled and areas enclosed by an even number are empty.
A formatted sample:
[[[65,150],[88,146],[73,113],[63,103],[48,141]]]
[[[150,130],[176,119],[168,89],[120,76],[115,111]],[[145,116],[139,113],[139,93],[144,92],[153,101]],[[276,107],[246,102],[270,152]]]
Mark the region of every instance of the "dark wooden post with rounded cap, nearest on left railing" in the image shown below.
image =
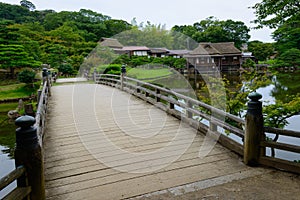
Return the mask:
[[[28,185],[31,186],[30,199],[45,199],[45,179],[42,148],[39,144],[37,128],[34,127],[35,118],[22,116],[16,119],[15,164],[25,166]],[[26,181],[22,177],[17,180],[18,187],[25,187]]]

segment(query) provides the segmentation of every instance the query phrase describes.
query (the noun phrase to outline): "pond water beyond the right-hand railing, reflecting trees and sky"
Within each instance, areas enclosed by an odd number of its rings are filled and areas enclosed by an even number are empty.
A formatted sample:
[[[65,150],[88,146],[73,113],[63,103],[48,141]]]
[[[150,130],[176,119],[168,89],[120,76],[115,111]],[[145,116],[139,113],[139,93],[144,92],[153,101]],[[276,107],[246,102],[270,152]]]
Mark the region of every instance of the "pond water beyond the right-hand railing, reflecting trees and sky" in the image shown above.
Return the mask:
[[[245,86],[245,82],[249,82],[249,79],[245,81],[245,76],[239,72],[232,73],[222,73],[222,77],[226,77],[228,79],[229,84],[227,87],[231,91],[241,91],[242,87]],[[249,78],[249,77],[248,77]],[[255,79],[256,77],[252,77]],[[246,78],[247,79],[247,78]],[[203,78],[201,75],[192,75],[189,78],[190,84],[196,91],[198,98],[201,95],[201,86],[203,86]],[[240,88],[236,88],[236,85],[241,85]],[[200,87],[199,87],[200,86]],[[281,100],[283,102],[288,101],[289,97],[292,95],[297,95],[300,92],[300,71],[296,72],[276,72],[276,73],[268,73],[268,80],[264,83],[261,83],[261,86],[256,89],[256,92],[260,93],[263,97],[261,101],[263,105],[274,104],[276,100]],[[245,101],[246,103],[246,101]],[[300,113],[300,111],[298,111]],[[241,115],[244,116],[246,110],[241,110]],[[288,124],[284,127],[284,129],[299,131],[300,130],[300,115],[294,115],[293,117],[288,118]],[[274,138],[274,134],[267,134],[268,137]],[[229,137],[234,138],[234,135],[229,135]],[[238,141],[238,140],[237,140]],[[238,141],[241,142],[241,141]],[[300,146],[299,138],[292,138],[286,136],[280,136],[278,142],[284,142],[288,144],[294,144]],[[267,155],[271,154],[271,150],[267,148]],[[287,160],[300,160],[300,155],[297,153],[291,153],[281,150],[275,150],[275,156],[278,158],[283,158]]]

